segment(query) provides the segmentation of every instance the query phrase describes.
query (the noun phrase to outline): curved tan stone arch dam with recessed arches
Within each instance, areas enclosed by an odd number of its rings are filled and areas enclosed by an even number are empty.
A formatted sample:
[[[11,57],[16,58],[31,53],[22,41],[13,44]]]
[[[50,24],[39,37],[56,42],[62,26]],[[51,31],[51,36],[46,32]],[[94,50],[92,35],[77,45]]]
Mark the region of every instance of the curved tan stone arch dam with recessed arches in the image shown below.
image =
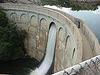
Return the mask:
[[[67,13],[29,4],[0,3],[7,17],[28,33],[28,55],[42,61],[50,24],[56,25],[54,72],[64,70],[100,54],[100,45],[85,22]]]

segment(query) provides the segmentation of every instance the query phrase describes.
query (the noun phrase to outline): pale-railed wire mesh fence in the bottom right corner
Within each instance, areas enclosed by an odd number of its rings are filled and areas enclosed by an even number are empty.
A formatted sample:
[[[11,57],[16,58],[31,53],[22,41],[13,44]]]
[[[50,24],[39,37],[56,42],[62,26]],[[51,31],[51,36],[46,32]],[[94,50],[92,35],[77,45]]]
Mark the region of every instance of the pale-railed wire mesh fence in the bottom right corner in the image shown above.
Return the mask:
[[[100,75],[100,55],[53,75]]]

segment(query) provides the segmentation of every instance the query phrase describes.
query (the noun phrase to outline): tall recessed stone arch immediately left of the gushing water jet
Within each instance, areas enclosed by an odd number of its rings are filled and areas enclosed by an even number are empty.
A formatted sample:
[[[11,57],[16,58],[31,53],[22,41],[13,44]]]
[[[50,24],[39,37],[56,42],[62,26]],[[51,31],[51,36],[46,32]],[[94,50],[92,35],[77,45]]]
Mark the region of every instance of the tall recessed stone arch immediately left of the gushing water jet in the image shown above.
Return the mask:
[[[41,39],[38,42],[38,48],[40,50],[41,59],[43,59],[45,55],[46,45],[47,45],[47,38],[48,38],[48,32],[47,32],[47,20],[45,18],[40,18],[39,20],[39,39]]]

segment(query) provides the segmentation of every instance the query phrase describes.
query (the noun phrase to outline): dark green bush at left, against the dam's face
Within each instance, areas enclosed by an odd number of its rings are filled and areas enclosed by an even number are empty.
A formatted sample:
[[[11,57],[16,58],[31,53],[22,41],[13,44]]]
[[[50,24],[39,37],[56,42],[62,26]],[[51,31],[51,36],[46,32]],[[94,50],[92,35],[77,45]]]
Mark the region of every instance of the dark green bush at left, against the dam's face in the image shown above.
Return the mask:
[[[24,56],[26,31],[10,23],[0,8],[0,60],[14,60]]]

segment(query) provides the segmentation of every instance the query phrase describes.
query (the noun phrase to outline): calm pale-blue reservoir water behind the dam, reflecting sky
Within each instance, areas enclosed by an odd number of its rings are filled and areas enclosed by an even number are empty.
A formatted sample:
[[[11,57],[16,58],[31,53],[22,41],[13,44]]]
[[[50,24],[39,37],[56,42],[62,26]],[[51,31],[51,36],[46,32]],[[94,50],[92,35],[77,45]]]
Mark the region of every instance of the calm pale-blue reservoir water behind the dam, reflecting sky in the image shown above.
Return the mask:
[[[88,25],[88,27],[92,30],[92,32],[95,33],[96,37],[100,42],[100,6],[98,6],[98,9],[95,11],[91,10],[73,11],[71,10],[71,8],[65,8],[65,7],[59,8],[57,6],[49,6],[49,5],[45,5],[45,7],[58,9],[84,20]]]

